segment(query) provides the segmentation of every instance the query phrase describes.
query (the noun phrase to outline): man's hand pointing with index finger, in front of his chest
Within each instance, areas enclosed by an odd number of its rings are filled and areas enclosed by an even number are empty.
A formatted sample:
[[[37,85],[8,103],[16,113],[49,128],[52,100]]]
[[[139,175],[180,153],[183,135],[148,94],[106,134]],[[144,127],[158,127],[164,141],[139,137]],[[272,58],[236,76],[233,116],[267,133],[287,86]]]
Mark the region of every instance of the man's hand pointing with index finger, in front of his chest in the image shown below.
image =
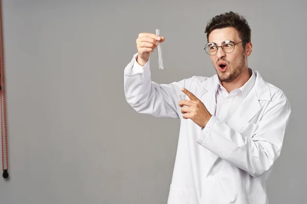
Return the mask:
[[[212,115],[207,110],[203,102],[194,94],[185,88],[182,88],[182,91],[190,98],[190,100],[180,100],[178,103],[178,105],[182,107],[181,113],[183,113],[183,118],[190,118],[200,127],[204,128]]]

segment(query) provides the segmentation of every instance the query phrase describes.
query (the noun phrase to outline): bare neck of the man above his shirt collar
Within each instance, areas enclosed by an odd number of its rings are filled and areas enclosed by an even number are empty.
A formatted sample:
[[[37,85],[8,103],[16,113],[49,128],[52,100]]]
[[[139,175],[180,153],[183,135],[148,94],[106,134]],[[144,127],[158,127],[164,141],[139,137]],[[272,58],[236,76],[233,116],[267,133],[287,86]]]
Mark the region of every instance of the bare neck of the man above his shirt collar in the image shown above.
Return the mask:
[[[231,91],[242,87],[250,79],[251,74],[252,72],[249,71],[249,68],[244,68],[237,78],[231,82],[222,82],[222,86],[228,93],[230,93]]]

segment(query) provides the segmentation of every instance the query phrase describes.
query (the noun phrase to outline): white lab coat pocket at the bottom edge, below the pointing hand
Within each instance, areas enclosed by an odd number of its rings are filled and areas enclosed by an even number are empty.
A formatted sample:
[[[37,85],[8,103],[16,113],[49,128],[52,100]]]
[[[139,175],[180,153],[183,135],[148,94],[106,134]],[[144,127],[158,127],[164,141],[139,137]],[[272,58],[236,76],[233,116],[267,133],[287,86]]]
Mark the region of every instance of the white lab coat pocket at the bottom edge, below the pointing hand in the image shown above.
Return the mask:
[[[188,204],[189,191],[173,184],[170,185],[167,204]]]

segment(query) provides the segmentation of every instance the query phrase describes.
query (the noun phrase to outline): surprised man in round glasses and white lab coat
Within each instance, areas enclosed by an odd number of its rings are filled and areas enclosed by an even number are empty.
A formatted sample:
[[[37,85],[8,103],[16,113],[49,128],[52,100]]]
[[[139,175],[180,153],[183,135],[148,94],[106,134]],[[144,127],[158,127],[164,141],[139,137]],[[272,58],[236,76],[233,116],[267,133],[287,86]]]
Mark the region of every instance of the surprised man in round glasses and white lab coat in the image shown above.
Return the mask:
[[[244,17],[214,16],[205,32],[217,74],[161,85],[151,82],[149,55],[165,38],[141,33],[124,70],[126,100],[139,113],[181,120],[168,204],[268,203],[266,181],[280,155],[289,101],[248,67]]]

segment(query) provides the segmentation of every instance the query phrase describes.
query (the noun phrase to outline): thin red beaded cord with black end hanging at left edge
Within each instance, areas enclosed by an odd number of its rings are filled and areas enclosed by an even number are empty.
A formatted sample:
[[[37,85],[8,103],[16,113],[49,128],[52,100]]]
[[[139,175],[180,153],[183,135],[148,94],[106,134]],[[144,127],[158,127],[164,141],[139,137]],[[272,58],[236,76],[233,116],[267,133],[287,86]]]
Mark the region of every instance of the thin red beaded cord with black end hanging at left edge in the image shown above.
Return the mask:
[[[5,97],[5,75],[4,75],[4,43],[3,43],[3,23],[2,23],[2,1],[0,0],[0,25],[1,25],[1,77],[0,77],[0,104],[1,104],[1,138],[2,138],[2,169],[3,177],[9,177],[9,154],[8,154],[8,129],[6,117],[6,97]],[[4,133],[4,134],[3,134]],[[4,155],[5,154],[5,155]],[[5,165],[6,164],[6,165]]]

